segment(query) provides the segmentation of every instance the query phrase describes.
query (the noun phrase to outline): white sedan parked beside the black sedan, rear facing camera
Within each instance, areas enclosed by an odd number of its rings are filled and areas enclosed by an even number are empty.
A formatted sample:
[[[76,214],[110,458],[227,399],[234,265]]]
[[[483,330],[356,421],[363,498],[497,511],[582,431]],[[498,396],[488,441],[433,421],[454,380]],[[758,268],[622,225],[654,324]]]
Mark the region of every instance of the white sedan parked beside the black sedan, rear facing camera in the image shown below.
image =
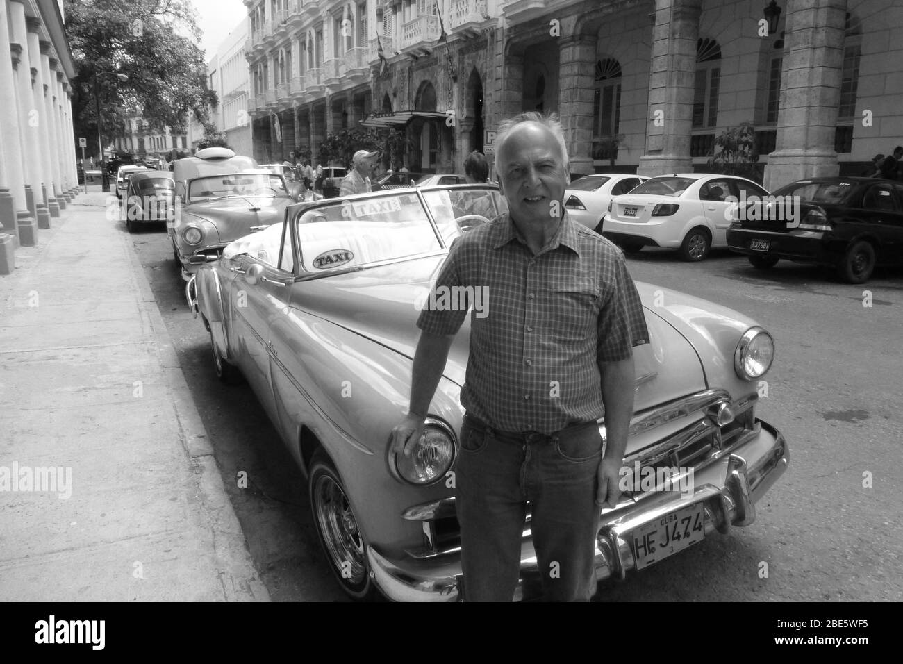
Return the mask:
[[[598,230],[625,251],[664,247],[677,249],[685,260],[702,260],[710,249],[728,246],[727,229],[738,218],[737,201],[750,196],[768,192],[732,175],[659,175],[612,198]]]

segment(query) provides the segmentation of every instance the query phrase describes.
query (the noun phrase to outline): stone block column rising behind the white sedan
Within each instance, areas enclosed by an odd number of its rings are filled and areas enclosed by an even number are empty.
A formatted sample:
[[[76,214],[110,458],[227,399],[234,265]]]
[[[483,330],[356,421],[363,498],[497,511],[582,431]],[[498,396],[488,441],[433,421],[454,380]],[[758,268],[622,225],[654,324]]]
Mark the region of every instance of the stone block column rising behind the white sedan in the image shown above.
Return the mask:
[[[640,174],[693,170],[690,135],[702,5],[702,0],[656,0],[646,154],[639,158]]]

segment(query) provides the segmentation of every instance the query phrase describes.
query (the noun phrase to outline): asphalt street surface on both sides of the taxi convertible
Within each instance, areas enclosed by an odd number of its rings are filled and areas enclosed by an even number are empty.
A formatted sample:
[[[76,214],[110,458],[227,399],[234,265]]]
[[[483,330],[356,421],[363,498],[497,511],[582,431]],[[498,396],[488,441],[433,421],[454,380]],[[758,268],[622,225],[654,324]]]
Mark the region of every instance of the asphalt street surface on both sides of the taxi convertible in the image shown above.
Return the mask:
[[[164,230],[131,239],[269,593],[284,601],[342,599],[322,561],[300,473],[251,389],[223,386],[213,374],[208,335],[184,303]],[[752,526],[712,536],[627,584],[608,583],[600,600],[903,599],[896,344],[903,273],[880,272],[854,286],[816,267],[778,264],[761,273],[726,252],[687,264],[645,250],[628,263],[638,280],[736,308],[775,335],[777,360],[759,416],[787,435],[791,464]],[[871,307],[862,306],[863,290]],[[237,488],[241,470],[247,489]],[[871,488],[862,486],[866,472]]]

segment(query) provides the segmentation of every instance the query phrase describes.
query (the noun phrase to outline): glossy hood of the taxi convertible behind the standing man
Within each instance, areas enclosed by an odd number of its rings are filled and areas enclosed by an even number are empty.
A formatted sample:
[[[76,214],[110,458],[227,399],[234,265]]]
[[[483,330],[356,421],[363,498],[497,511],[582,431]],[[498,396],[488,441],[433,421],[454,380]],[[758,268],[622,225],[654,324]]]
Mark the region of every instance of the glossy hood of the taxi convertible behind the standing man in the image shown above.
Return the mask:
[[[308,313],[357,332],[408,358],[420,337],[419,308],[438,275],[444,255],[335,275],[297,284],[293,304]],[[677,317],[656,313],[656,287],[638,283],[646,309],[650,343],[634,349],[638,388],[635,408],[642,410],[706,388],[700,357],[675,325]],[[734,341],[736,343],[736,340]],[[443,372],[464,384],[469,354],[470,317],[465,320]]]

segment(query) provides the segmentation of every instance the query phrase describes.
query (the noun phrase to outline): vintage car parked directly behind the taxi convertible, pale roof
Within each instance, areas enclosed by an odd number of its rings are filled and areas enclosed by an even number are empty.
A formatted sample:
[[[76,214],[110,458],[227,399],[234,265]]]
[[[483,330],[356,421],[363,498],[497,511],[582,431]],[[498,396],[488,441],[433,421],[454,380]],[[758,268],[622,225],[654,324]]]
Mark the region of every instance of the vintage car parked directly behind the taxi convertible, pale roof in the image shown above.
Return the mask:
[[[199,150],[172,171],[175,220],[166,232],[186,280],[232,240],[282,221],[285,208],[303,196],[300,185],[225,147]]]

